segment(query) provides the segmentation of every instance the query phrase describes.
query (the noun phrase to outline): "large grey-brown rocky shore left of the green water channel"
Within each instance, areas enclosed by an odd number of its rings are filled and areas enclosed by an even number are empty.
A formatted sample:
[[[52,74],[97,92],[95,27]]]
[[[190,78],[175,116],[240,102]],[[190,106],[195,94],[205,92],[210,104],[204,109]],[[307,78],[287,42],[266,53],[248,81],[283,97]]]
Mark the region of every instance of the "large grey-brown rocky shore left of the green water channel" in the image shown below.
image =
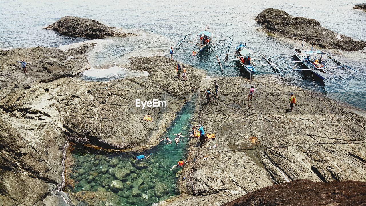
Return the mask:
[[[187,81],[181,81],[175,78],[176,61],[155,56],[133,58],[126,66],[143,65],[149,76],[111,82],[72,78],[90,68],[85,51],[44,47],[1,51],[3,205],[54,205],[67,199],[58,191],[64,186],[68,139],[104,148],[153,147],[204,77],[188,66]],[[20,71],[15,62],[19,59],[28,62],[28,74]],[[164,99],[168,107],[138,110],[135,97]],[[145,121],[145,115],[153,121]]]

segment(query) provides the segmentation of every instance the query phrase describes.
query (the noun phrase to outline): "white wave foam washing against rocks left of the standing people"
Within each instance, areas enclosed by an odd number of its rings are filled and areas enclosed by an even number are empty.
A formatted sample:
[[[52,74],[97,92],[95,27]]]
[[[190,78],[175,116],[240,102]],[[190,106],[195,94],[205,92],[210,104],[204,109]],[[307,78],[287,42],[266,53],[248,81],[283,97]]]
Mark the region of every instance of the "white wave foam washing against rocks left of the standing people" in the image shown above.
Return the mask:
[[[82,75],[88,79],[118,79],[118,78],[131,78],[131,77],[141,77],[148,76],[147,71],[132,71],[124,67],[112,66],[108,69],[94,69],[91,68],[82,73]]]

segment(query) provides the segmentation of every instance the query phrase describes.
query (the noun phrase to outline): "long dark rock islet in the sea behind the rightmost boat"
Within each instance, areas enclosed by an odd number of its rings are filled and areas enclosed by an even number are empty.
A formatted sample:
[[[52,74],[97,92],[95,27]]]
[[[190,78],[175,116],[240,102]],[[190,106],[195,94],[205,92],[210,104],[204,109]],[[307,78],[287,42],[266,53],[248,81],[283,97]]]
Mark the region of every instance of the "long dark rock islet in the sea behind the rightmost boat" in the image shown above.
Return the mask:
[[[263,31],[295,40],[304,40],[321,48],[358,51],[366,47],[365,42],[355,41],[350,37],[325,29],[314,19],[294,17],[273,8],[263,10],[255,21],[263,25]]]

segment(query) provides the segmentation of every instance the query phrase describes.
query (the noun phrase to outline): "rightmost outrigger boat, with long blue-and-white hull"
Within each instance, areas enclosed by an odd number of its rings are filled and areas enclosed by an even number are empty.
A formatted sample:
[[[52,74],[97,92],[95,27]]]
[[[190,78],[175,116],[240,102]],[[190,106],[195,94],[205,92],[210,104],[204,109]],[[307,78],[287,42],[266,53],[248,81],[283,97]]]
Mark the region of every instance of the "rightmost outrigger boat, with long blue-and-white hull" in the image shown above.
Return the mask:
[[[292,51],[293,54],[299,59],[299,61],[288,61],[283,58],[283,56],[288,54],[277,54],[275,56],[272,56],[268,58],[269,63],[272,65],[273,68],[275,68],[282,77],[284,77],[287,73],[295,70],[310,70],[315,76],[321,78],[324,80],[325,78],[332,75],[332,73],[329,73],[329,69],[335,69],[335,68],[348,68],[351,70],[354,70],[358,72],[357,70],[353,69],[350,66],[345,65],[344,63],[340,62],[339,60],[336,60],[331,56],[330,54],[324,53],[322,51],[313,51],[313,46],[311,46],[311,49],[309,51],[303,51],[303,47],[305,45],[302,44],[301,49],[299,48],[293,48]],[[305,46],[306,47],[306,46]],[[280,57],[283,62],[276,65],[275,58]],[[327,59],[325,59],[325,57]],[[288,63],[296,63],[293,67],[290,66]],[[298,63],[301,63],[298,65]],[[289,71],[282,71],[280,69],[280,65],[286,64],[287,67],[289,67],[291,70]],[[333,64],[333,65],[331,65]],[[304,65],[306,69],[301,69],[300,66]],[[297,69],[295,69],[297,67]]]

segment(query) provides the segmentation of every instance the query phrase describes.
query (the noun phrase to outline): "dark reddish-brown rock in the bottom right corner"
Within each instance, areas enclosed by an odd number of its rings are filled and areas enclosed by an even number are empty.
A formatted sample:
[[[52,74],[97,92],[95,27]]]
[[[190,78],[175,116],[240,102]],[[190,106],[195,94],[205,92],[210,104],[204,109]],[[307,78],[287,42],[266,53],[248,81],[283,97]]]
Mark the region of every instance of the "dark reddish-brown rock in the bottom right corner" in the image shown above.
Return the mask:
[[[359,181],[332,181],[318,183],[294,180],[250,192],[222,206],[272,206],[272,205],[366,205],[366,183]]]

